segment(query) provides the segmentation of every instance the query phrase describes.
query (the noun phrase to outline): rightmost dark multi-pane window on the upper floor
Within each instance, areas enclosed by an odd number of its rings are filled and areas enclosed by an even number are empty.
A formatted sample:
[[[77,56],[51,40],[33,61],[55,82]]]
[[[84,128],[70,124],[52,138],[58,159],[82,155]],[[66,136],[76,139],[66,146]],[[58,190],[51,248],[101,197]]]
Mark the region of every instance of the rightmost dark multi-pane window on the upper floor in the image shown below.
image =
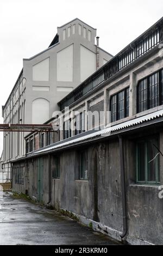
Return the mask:
[[[137,86],[137,113],[162,105],[162,88],[162,70],[141,80]]]

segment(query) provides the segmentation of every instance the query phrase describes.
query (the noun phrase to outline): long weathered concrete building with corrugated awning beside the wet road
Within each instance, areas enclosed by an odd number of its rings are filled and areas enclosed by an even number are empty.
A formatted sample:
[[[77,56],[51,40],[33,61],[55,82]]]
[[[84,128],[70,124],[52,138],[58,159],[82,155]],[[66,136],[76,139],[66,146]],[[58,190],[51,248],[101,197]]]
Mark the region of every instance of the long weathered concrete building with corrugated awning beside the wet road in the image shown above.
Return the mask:
[[[55,131],[25,135],[12,190],[118,241],[162,244],[162,46],[163,18],[104,65],[95,47],[101,67],[81,80],[80,65],[76,88],[45,113]]]

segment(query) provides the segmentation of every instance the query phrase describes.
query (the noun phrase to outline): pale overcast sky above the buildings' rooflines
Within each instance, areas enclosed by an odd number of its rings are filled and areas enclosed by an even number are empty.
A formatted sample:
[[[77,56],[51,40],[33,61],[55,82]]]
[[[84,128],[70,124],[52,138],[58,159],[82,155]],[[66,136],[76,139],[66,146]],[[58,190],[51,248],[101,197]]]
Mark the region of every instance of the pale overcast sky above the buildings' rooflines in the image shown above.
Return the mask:
[[[20,74],[22,59],[47,48],[57,26],[78,17],[97,28],[100,46],[115,55],[158,21],[162,10],[162,0],[0,0],[0,105]],[[2,138],[1,133],[0,154]]]

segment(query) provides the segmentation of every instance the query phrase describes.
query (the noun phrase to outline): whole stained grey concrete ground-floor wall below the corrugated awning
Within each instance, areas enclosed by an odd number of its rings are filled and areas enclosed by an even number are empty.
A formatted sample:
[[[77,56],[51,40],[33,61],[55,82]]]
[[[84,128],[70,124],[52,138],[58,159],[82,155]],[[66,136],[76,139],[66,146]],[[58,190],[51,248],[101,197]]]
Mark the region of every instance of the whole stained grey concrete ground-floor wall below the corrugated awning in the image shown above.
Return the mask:
[[[149,131],[148,131],[149,132]],[[152,131],[151,131],[152,132]],[[141,136],[146,136],[147,132]],[[138,135],[140,137],[140,135]],[[138,137],[137,137],[138,138]],[[158,197],[158,186],[136,184],[136,137],[124,138],[124,160],[127,189],[128,235],[126,240],[131,244],[162,244],[163,204]],[[160,133],[160,145],[163,143]],[[84,223],[98,223],[96,230],[121,240],[123,229],[121,165],[118,139],[82,147],[87,151],[88,179],[78,180],[79,157],[81,149],[62,151],[60,156],[60,179],[52,178],[51,166],[51,203],[56,209],[73,212]],[[162,149],[161,149],[162,150]],[[116,159],[115,159],[116,156]],[[55,155],[52,154],[52,157]],[[25,192],[37,198],[36,160],[29,160],[29,182],[24,186],[14,183],[12,189]],[[160,158],[160,177],[163,181],[162,161]],[[43,156],[43,202],[49,200],[49,161]],[[14,167],[16,163],[14,164]]]

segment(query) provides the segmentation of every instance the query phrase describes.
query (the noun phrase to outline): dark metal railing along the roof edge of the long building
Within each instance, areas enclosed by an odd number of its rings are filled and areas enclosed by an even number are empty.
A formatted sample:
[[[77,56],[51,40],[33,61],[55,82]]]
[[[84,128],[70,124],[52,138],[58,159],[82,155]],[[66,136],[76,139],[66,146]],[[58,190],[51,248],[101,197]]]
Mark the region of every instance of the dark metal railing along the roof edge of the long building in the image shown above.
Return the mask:
[[[60,101],[60,110],[70,106],[73,102],[77,101],[85,94],[91,92],[93,89],[101,86],[111,76],[115,75],[118,71],[126,68],[131,63],[135,62],[145,53],[151,51],[162,41],[162,33],[159,27],[154,27],[148,31],[146,35],[140,36],[139,39],[126,47],[122,52],[112,58],[103,68],[96,71],[91,77],[84,81],[80,86],[73,90],[72,93],[67,95]]]

